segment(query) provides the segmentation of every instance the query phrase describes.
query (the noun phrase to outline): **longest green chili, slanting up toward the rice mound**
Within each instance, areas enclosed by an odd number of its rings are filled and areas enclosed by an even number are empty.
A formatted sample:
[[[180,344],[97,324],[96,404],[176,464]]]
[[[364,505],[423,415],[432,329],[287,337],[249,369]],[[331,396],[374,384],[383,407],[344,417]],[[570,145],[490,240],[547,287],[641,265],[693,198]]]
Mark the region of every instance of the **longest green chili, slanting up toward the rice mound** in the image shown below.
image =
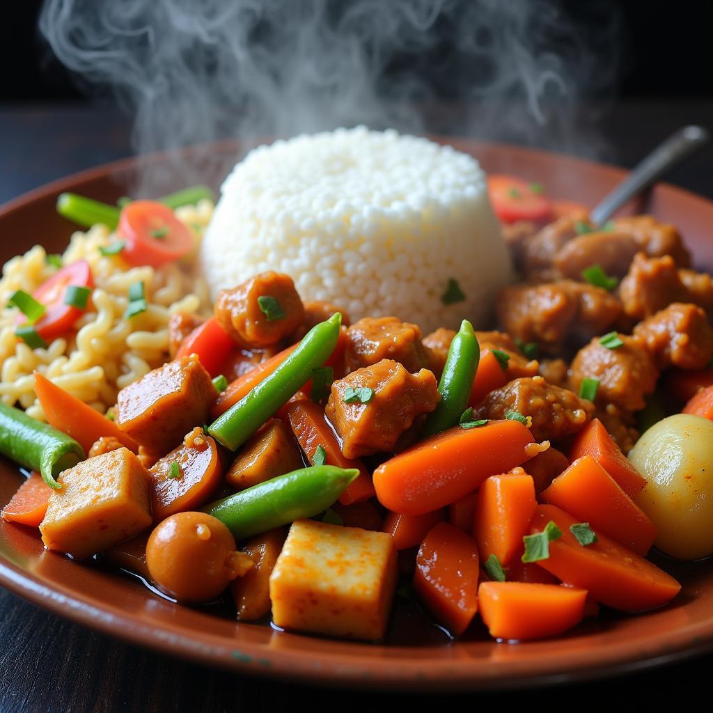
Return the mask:
[[[286,404],[334,352],[342,326],[342,314],[335,312],[304,335],[297,349],[275,371],[260,381],[237,404],[210,424],[208,434],[235,451],[242,446],[282,404]]]

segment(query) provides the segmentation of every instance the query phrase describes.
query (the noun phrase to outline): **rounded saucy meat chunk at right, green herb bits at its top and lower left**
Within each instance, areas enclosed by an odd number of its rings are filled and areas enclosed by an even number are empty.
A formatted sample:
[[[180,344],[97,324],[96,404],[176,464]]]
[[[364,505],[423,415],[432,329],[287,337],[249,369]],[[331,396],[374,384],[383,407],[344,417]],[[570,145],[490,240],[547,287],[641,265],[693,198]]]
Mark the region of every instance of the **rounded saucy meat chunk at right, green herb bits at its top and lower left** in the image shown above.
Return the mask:
[[[595,337],[577,352],[570,366],[570,385],[579,391],[585,378],[597,379],[597,402],[615,404],[622,411],[638,411],[656,388],[659,369],[637,337],[619,334],[621,347],[608,349]]]

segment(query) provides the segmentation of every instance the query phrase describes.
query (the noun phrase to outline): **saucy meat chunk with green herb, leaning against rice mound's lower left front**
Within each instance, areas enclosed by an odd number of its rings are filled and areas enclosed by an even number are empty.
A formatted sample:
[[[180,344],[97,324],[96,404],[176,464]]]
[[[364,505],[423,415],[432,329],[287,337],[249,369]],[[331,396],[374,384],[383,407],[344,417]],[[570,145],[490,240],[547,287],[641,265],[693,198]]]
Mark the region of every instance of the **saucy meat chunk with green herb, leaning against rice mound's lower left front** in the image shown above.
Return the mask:
[[[304,321],[304,306],[289,275],[263,272],[221,290],[215,317],[240,346],[260,349],[294,332]]]

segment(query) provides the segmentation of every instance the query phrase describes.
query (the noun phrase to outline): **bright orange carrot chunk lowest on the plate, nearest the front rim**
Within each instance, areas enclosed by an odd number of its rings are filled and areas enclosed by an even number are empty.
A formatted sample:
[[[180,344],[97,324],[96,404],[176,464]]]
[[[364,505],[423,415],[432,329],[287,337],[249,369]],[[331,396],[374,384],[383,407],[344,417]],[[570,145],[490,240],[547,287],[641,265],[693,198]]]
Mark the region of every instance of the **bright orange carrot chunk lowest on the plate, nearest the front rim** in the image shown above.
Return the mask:
[[[584,618],[587,591],[555,584],[483,582],[478,606],[491,636],[527,641],[557,636]]]

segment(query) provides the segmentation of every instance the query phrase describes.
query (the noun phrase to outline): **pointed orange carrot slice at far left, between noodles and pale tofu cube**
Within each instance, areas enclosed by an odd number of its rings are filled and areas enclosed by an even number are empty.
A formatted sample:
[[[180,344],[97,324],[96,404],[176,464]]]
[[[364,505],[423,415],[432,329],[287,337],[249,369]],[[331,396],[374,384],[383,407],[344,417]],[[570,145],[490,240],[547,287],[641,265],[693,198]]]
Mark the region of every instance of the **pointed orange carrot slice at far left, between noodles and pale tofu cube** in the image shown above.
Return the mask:
[[[128,436],[106,416],[102,416],[84,401],[72,396],[49,379],[34,372],[35,394],[48,424],[74,438],[88,453],[92,444],[101,436],[111,436],[130,451],[138,451],[138,443]]]

